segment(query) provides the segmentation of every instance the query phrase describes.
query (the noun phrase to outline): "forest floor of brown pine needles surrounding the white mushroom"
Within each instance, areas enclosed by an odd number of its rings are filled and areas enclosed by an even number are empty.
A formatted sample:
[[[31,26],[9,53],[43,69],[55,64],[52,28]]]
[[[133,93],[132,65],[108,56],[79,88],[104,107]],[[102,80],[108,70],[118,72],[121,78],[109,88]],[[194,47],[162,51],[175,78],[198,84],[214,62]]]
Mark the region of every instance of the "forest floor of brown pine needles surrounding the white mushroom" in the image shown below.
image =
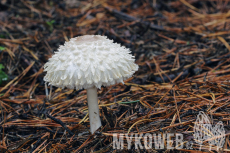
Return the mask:
[[[86,90],[53,87],[47,99],[43,81],[58,47],[86,34],[129,48],[139,65],[124,85],[98,90],[93,135]],[[173,133],[173,147],[128,143],[141,133]],[[230,152],[229,135],[229,0],[0,1],[0,152]]]

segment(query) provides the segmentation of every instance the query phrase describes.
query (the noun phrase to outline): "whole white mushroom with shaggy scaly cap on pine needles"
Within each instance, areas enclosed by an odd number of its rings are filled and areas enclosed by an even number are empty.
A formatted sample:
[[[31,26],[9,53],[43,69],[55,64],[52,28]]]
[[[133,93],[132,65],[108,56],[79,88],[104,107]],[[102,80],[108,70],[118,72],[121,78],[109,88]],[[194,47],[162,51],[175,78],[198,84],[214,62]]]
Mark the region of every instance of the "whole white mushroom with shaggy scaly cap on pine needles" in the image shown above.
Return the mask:
[[[97,88],[123,83],[138,65],[130,50],[113,43],[106,36],[84,35],[71,38],[44,65],[44,81],[69,89],[86,89],[90,131],[100,126]]]

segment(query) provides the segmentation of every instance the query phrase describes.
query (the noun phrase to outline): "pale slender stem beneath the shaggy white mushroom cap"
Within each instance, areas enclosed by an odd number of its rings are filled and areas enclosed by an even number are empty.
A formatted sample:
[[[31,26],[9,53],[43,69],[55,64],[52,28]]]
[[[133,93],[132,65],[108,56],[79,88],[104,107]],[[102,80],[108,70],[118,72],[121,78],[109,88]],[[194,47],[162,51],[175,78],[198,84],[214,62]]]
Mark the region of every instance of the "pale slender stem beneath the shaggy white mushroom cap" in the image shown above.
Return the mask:
[[[93,134],[101,126],[96,87],[87,89],[87,101],[89,110],[90,131]]]

